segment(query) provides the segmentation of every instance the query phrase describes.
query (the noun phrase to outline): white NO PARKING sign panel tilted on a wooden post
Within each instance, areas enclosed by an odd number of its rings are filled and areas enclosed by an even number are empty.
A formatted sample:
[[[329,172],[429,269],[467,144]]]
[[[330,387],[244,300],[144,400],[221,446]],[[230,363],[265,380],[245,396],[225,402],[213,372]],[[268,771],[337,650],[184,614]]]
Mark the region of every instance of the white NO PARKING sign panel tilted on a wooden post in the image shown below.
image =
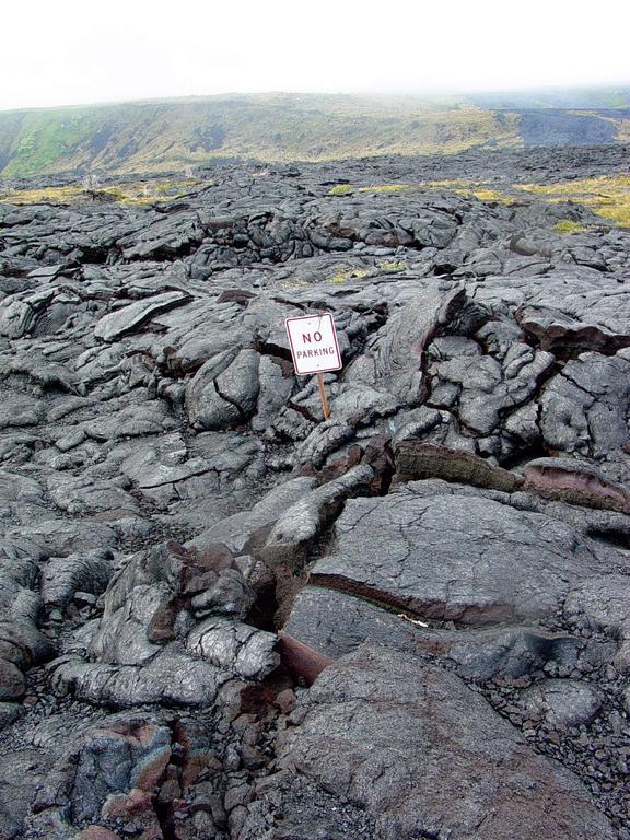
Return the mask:
[[[287,318],[287,335],[295,373],[326,373],[341,369],[341,352],[332,315],[305,315]]]

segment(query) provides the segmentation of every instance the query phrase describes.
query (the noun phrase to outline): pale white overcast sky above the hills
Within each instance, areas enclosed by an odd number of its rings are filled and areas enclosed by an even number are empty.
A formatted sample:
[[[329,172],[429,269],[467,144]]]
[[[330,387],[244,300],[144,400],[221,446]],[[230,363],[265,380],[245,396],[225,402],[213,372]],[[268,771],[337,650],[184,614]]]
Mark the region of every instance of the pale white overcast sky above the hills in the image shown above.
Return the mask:
[[[620,84],[629,32],[628,0],[5,0],[0,108]]]

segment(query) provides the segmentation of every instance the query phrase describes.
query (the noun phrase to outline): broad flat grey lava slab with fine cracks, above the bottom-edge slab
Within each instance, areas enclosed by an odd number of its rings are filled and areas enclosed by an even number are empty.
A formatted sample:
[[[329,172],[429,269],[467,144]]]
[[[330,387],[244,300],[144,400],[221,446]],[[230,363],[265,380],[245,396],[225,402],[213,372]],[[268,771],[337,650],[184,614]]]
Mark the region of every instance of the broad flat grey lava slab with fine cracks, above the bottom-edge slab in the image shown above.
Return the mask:
[[[562,517],[518,510],[508,494],[457,489],[411,482],[385,499],[349,501],[312,582],[479,627],[551,618],[572,583],[623,560]]]

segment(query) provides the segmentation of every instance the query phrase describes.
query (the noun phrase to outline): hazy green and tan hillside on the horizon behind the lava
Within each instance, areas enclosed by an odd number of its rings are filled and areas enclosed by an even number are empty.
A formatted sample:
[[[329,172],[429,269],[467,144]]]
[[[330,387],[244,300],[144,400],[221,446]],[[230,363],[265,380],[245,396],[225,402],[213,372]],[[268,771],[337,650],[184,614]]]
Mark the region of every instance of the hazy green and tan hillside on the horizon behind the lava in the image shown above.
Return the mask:
[[[0,176],[183,170],[630,138],[630,89],[419,100],[260,94],[0,112]]]

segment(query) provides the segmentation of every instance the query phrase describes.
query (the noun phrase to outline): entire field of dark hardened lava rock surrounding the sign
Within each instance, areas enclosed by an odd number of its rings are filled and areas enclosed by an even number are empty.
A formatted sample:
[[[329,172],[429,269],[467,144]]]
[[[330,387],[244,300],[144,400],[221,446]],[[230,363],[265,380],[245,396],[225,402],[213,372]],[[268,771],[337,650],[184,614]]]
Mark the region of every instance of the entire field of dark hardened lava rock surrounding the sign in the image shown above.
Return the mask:
[[[0,203],[0,838],[630,840],[630,234],[390,188],[621,165]]]

